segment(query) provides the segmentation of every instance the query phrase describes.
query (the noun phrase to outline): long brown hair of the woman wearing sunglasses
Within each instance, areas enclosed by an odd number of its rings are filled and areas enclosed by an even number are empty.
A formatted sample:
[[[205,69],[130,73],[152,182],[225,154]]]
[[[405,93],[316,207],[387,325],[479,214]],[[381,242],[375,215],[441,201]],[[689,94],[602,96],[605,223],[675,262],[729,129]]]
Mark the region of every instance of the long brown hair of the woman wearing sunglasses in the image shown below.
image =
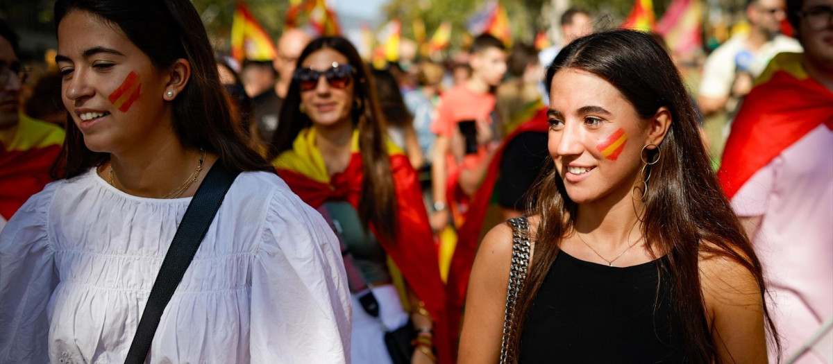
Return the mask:
[[[394,237],[397,228],[397,196],[393,189],[393,175],[390,157],[387,155],[386,139],[387,125],[379,108],[376,87],[371,72],[362,62],[356,48],[342,37],[320,37],[312,41],[301,56],[296,66],[313,52],[329,48],[341,53],[350,61],[356,71],[353,75],[355,86],[353,96],[352,123],[359,130],[359,153],[362,155],[362,197],[359,199],[359,217],[365,229],[370,224],[385,238]],[[301,112],[301,88],[296,80],[292,80],[287,91],[287,98],[281,106],[281,114],[277,130],[269,146],[270,159],[274,159],[285,150],[292,149],[301,130],[312,126],[307,114]]]

